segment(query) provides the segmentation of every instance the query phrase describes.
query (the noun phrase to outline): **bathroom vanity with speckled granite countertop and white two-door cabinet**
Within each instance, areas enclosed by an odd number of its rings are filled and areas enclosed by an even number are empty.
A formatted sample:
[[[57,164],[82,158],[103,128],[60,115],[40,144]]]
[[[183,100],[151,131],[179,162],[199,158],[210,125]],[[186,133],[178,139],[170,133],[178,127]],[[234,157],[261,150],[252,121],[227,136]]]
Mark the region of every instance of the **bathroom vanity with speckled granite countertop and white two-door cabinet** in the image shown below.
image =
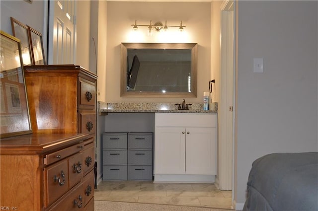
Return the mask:
[[[154,182],[213,183],[217,113],[202,108],[200,103],[189,110],[171,103],[108,103],[99,111],[108,114],[107,132],[154,132]]]

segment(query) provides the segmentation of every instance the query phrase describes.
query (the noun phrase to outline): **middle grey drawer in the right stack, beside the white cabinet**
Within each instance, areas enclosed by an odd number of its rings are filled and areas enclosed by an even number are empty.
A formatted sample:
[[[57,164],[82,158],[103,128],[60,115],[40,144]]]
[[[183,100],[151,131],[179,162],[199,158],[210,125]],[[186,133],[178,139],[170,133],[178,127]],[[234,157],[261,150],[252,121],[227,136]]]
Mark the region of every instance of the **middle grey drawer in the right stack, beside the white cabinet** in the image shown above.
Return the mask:
[[[153,164],[153,150],[128,150],[128,164]]]

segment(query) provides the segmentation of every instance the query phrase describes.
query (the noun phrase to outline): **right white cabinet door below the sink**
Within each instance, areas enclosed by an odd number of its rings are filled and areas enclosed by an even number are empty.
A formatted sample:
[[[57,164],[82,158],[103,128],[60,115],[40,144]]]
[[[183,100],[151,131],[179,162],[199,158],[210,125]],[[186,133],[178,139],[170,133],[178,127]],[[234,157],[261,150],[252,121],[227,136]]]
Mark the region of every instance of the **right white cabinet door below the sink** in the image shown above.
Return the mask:
[[[216,128],[186,128],[186,174],[216,175]]]

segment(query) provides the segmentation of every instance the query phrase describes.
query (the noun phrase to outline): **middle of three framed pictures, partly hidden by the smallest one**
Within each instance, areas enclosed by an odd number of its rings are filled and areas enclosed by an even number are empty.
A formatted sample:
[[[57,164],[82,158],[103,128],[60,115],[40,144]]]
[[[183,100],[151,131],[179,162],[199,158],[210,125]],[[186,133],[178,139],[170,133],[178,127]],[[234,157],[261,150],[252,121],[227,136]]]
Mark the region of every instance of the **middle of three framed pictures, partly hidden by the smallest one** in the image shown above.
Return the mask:
[[[13,17],[10,17],[10,19],[12,34],[20,40],[23,65],[32,65],[28,27]]]

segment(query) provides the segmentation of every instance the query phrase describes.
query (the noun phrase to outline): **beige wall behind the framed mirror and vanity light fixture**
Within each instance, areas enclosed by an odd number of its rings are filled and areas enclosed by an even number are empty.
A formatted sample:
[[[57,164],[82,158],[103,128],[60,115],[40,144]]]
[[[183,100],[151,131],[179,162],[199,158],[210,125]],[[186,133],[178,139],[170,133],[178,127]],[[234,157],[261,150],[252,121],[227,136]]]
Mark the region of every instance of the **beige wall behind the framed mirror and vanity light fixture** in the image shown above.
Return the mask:
[[[211,37],[210,3],[176,2],[107,2],[107,66],[106,102],[175,102],[175,98],[120,97],[120,43],[122,42],[187,42],[198,43],[198,97],[187,102],[202,102],[203,91],[208,91],[210,79]],[[160,33],[147,35],[147,27],[139,27],[139,37],[133,37],[131,24],[153,24],[167,20],[169,25],[179,25],[182,20],[185,30],[178,37],[160,38]],[[177,31],[170,28],[169,32]]]

